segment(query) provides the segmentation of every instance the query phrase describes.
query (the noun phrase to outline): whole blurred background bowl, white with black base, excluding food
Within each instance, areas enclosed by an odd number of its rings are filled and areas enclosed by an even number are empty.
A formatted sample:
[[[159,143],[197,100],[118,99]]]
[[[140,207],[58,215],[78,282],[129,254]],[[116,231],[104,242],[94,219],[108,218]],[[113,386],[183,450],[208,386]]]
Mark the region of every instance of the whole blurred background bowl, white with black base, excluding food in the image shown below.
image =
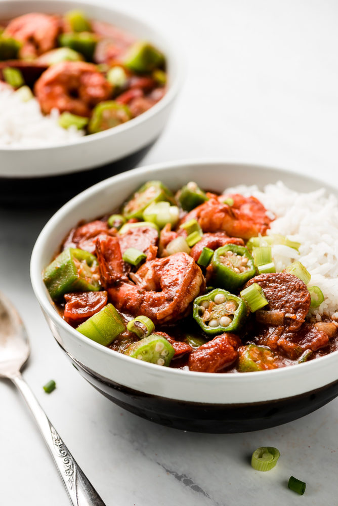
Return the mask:
[[[78,0],[2,0],[0,19],[29,12],[62,14],[80,9],[88,17],[111,23],[139,39],[151,41],[165,55],[168,87],[164,97],[140,116],[110,130],[69,143],[44,147],[0,146],[0,203],[65,201],[97,181],[129,170],[146,154],[163,130],[181,81],[179,51],[147,23],[92,2]]]

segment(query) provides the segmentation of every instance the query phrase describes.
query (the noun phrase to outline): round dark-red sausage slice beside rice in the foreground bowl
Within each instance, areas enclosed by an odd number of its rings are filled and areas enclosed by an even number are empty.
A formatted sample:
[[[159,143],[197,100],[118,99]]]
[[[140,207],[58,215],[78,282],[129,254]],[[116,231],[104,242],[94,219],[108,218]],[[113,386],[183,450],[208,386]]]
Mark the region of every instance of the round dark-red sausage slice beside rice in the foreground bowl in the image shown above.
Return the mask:
[[[286,272],[273,272],[255,276],[245,284],[245,287],[252,283],[257,283],[263,288],[269,302],[266,309],[284,313],[286,330],[294,332],[301,327],[311,302],[309,290],[301,279]]]

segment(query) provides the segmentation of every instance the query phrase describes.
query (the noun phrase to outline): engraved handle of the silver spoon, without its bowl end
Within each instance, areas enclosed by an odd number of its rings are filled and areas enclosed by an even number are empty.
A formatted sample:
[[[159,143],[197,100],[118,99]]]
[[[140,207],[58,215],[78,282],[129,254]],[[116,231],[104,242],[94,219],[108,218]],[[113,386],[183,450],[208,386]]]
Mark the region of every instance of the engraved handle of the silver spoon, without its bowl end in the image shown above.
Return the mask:
[[[105,506],[19,373],[11,377],[34,415],[74,506]]]

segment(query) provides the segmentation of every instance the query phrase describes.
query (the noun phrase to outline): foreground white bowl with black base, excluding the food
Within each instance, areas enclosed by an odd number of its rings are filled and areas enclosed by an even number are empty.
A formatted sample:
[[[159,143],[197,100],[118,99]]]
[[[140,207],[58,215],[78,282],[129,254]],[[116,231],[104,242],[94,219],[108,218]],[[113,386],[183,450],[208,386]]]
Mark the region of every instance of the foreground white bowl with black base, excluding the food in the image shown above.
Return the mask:
[[[64,205],[40,233],[31,258],[31,281],[52,333],[80,372],[114,402],[158,423],[185,430],[257,430],[307,414],[338,395],[338,352],[281,369],[211,374],[159,367],[118,354],[87,339],[56,312],[41,278],[68,230],[119,206],[142,183],[158,179],[176,190],[187,181],[221,191],[241,183],[282,180],[298,191],[332,187],[267,167],[222,162],[174,162],[114,176]]]

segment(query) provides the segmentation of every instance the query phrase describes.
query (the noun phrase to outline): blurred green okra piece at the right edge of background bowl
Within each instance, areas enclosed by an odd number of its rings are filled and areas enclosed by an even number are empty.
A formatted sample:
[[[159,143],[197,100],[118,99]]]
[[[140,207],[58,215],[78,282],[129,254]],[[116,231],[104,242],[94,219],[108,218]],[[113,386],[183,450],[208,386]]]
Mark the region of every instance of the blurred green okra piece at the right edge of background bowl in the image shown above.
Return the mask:
[[[124,58],[124,66],[135,72],[151,72],[164,64],[164,56],[146,41],[137,41]]]

